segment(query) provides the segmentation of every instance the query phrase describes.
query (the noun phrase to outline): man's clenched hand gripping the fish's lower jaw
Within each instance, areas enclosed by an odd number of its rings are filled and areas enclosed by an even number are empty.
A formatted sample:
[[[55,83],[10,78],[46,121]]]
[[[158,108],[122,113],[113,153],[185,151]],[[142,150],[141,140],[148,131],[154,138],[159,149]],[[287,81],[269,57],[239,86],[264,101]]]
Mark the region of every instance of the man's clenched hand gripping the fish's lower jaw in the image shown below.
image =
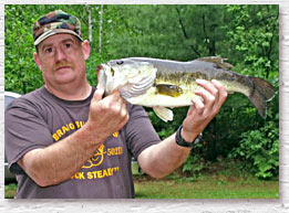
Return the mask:
[[[118,90],[103,98],[103,88],[97,88],[91,100],[87,124],[96,138],[105,140],[120,130],[130,119],[126,103]]]

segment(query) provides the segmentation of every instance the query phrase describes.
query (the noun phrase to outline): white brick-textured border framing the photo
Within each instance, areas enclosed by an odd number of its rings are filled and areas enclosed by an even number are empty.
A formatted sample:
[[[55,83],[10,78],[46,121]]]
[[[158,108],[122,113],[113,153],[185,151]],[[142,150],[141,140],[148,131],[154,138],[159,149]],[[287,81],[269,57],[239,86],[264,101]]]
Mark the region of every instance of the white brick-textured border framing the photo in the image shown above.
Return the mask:
[[[4,162],[4,4],[55,4],[51,0],[0,0],[0,161]],[[6,213],[79,212],[202,212],[202,213],[286,213],[289,212],[289,2],[288,0],[126,0],[127,4],[279,4],[280,60],[280,177],[279,200],[6,200],[4,167],[0,167],[0,211]],[[122,0],[59,0],[58,4],[120,4]],[[286,72],[287,70],[287,72]],[[3,164],[3,163],[2,163]]]

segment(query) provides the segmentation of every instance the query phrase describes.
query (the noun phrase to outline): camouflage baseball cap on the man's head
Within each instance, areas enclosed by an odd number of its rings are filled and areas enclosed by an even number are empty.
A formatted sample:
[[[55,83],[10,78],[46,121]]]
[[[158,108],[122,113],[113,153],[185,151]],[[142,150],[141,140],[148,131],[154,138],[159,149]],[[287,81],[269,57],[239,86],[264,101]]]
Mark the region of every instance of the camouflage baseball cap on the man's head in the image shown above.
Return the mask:
[[[47,38],[58,33],[70,33],[83,41],[80,20],[62,10],[55,10],[40,18],[34,23],[34,45],[37,46]]]

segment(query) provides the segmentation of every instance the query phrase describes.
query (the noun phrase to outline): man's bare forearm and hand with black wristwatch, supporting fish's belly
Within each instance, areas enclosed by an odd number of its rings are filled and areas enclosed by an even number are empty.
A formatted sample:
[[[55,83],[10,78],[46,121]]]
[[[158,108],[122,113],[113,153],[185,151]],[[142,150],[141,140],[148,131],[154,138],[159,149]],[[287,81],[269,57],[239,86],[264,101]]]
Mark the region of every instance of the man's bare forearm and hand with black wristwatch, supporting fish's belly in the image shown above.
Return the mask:
[[[183,121],[182,137],[186,141],[193,141],[217,115],[227,98],[225,87],[217,81],[197,81],[205,90],[196,92],[202,96],[193,99],[187,117]],[[142,169],[154,178],[162,178],[180,167],[187,159],[190,148],[180,147],[175,141],[175,134],[158,145],[145,149],[138,156]]]

